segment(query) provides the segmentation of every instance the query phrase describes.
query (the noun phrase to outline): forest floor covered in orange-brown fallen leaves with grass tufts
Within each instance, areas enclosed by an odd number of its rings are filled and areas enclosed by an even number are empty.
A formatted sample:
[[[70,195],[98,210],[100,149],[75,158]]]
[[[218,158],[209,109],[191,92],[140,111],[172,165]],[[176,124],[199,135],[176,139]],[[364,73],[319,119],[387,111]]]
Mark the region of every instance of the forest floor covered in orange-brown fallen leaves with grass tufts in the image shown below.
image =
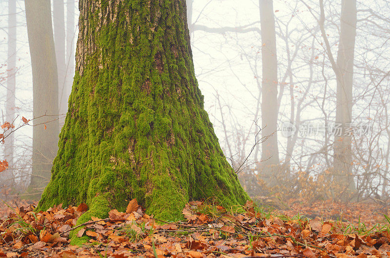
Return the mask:
[[[0,257],[390,257],[385,203],[289,200],[276,210],[266,198],[254,200],[267,204],[227,211],[190,202],[185,219],[171,223],[145,214],[133,200],[125,213],[112,210],[107,219],[79,226],[86,204],[39,213],[30,203],[0,204]],[[85,244],[70,244],[73,230]]]

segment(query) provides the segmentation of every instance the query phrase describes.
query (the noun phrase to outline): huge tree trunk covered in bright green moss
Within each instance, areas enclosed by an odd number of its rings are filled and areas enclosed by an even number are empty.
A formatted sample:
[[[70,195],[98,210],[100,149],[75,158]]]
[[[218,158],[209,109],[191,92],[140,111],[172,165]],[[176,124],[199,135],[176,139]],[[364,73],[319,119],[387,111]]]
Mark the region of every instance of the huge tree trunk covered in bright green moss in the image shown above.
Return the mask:
[[[185,0],[80,0],[76,75],[39,208],[90,215],[137,201],[163,219],[189,200],[248,198],[195,79]]]

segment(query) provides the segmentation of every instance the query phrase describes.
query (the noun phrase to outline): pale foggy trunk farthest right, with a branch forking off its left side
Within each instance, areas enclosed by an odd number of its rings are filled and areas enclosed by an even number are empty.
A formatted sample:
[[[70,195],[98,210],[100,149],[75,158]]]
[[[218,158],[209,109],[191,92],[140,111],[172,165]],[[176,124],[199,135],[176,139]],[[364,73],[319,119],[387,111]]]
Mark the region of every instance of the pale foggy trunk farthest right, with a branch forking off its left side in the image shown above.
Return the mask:
[[[353,59],[356,37],[356,0],[343,0],[341,9],[340,44],[337,52],[336,125],[342,130],[334,137],[335,182],[342,184],[350,194],[356,191],[352,176],[351,127]]]

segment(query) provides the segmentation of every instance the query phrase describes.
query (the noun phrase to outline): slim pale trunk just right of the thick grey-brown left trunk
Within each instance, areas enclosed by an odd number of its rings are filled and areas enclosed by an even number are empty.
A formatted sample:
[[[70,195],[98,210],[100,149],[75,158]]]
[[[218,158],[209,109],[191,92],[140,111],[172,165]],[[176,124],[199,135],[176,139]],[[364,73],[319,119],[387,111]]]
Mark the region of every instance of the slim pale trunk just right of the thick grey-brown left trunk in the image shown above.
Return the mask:
[[[54,43],[56,49],[57,73],[58,73],[59,113],[65,114],[66,111],[68,110],[68,96],[67,96],[67,89],[66,89],[67,87],[65,82],[65,78],[66,78],[65,16],[64,16],[63,0],[53,1],[53,25],[54,25]]]

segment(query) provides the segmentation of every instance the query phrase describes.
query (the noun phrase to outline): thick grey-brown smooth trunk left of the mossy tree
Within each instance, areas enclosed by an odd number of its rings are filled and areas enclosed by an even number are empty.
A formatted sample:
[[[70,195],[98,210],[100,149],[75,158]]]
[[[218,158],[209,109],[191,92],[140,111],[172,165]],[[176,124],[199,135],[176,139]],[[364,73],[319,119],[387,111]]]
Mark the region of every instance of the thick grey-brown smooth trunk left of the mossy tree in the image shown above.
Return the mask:
[[[58,114],[58,77],[54,48],[50,0],[25,0],[27,34],[33,71],[33,116]],[[58,120],[51,116],[34,120],[33,171],[28,192],[41,192],[50,179],[57,152]]]

